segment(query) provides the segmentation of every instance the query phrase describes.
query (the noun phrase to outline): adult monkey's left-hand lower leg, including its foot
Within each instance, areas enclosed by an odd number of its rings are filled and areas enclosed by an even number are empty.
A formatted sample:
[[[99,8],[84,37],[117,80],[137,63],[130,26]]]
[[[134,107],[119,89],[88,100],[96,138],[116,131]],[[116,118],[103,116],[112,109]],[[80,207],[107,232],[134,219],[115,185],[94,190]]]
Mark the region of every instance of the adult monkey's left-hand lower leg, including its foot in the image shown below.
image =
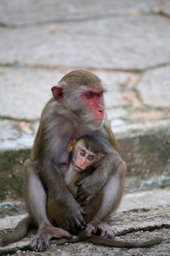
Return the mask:
[[[62,229],[55,228],[48,221],[46,212],[47,195],[37,176],[37,161],[27,160],[25,163],[25,200],[26,207],[38,227],[37,236],[31,241],[33,250],[42,251],[48,247],[48,241],[54,238],[68,237],[71,235]]]

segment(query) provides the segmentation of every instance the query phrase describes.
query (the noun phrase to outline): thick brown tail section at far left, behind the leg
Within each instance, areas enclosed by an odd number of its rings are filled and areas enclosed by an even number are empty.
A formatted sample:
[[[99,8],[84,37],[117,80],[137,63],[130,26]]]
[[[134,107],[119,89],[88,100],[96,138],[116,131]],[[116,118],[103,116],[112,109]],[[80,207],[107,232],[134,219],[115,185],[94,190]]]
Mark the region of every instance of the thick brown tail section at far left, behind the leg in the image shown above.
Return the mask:
[[[19,224],[15,227],[13,232],[4,234],[0,238],[0,247],[4,247],[14,241],[19,241],[31,230],[33,227],[33,220],[30,216],[22,219]]]

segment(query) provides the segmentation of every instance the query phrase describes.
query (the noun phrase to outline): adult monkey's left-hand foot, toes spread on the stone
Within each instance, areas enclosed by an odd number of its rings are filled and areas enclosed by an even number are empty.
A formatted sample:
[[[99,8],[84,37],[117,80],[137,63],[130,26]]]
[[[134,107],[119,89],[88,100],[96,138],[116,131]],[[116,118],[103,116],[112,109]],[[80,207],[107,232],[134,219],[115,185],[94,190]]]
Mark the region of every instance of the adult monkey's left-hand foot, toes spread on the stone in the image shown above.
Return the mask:
[[[37,235],[31,240],[31,248],[33,251],[42,251],[48,248],[51,238],[71,238],[71,234],[63,229],[54,228],[52,225],[45,225],[38,230]]]

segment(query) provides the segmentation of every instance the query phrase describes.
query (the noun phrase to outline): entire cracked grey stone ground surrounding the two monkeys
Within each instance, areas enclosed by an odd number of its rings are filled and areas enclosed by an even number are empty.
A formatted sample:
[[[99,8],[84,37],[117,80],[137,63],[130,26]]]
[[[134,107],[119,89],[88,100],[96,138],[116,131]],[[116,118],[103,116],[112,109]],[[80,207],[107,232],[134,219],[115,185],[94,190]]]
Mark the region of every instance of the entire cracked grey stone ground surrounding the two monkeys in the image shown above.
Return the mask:
[[[2,0],[0,36],[0,230],[25,214],[22,164],[52,84],[82,68],[105,81],[108,117],[127,162],[126,194],[111,224],[127,230],[126,239],[165,241],[130,250],[66,243],[43,254],[169,255],[170,1]],[[12,248],[0,255],[33,254],[20,243]]]

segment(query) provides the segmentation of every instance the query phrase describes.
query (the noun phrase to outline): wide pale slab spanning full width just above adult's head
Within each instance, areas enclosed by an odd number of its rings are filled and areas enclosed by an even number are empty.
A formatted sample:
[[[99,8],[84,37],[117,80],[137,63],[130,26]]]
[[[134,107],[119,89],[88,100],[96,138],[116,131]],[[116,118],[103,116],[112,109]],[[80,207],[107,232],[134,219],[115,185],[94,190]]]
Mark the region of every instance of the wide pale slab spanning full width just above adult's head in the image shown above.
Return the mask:
[[[2,28],[0,64],[144,70],[169,62],[168,27],[139,15]]]

